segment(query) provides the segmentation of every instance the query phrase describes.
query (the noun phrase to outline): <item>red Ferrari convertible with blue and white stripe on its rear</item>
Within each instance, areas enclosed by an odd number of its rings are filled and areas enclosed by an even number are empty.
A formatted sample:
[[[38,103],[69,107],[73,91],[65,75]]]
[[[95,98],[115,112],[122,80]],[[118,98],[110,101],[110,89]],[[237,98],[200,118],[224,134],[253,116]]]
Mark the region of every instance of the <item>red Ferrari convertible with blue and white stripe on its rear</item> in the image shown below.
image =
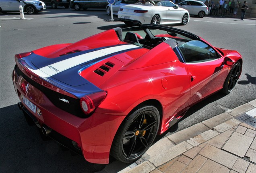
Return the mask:
[[[140,158],[191,105],[230,93],[243,63],[235,50],[149,24],[16,54],[15,62],[12,80],[29,125],[101,164],[109,155]]]

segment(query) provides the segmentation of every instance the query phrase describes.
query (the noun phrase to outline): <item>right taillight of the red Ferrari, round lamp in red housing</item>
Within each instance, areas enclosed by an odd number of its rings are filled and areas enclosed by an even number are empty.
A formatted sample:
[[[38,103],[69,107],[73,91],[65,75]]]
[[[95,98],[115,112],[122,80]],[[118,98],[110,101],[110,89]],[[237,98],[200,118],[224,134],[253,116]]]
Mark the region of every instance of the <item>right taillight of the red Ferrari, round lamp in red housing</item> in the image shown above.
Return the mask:
[[[101,91],[99,93],[93,93],[91,95],[81,97],[80,106],[83,113],[85,113],[85,115],[92,113],[105,99],[106,95],[107,93],[105,91]]]

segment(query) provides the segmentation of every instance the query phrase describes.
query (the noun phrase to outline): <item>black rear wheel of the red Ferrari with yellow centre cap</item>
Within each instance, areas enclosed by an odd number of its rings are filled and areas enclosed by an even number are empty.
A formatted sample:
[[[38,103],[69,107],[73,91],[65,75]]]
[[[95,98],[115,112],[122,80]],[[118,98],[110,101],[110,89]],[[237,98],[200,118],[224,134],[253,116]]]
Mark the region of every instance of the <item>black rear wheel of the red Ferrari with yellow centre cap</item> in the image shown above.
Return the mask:
[[[151,105],[138,108],[120,125],[111,146],[111,155],[124,163],[139,159],[155,140],[159,122],[157,108]]]

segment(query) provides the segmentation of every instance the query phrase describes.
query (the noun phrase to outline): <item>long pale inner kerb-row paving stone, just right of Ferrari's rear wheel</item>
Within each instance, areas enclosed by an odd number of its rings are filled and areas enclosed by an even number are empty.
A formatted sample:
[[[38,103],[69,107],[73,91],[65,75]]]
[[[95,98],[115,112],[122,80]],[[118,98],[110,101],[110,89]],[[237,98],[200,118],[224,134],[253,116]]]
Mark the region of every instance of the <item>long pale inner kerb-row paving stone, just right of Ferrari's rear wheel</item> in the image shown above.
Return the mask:
[[[159,167],[160,165],[163,165],[164,163],[170,161],[171,159],[177,157],[178,155],[181,155],[182,153],[188,151],[192,148],[192,145],[182,142],[178,145],[175,145],[174,147],[166,150],[163,154],[157,154],[155,157],[151,157],[149,161],[155,165],[155,167]]]

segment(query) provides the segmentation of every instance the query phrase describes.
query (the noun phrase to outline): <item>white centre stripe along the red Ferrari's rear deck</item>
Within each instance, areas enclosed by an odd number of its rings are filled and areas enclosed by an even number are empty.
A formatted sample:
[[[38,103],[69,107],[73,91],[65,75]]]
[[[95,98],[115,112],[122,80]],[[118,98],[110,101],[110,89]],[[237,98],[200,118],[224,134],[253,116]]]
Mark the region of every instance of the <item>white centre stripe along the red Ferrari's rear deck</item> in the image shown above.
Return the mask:
[[[68,70],[74,66],[78,66],[85,62],[89,62],[91,60],[95,60],[97,58],[105,58],[107,56],[111,56],[111,54],[116,54],[122,51],[128,51],[136,48],[141,48],[132,44],[123,44],[118,46],[112,46],[108,48],[103,48],[91,52],[87,52],[85,54],[80,54],[78,56],[70,57],[68,59],[60,60],[58,62],[54,62],[52,64],[45,64],[45,66],[38,69],[31,69],[33,73],[41,76],[43,78],[48,78],[50,76],[56,75],[60,72]],[[101,59],[102,60],[102,59]]]

